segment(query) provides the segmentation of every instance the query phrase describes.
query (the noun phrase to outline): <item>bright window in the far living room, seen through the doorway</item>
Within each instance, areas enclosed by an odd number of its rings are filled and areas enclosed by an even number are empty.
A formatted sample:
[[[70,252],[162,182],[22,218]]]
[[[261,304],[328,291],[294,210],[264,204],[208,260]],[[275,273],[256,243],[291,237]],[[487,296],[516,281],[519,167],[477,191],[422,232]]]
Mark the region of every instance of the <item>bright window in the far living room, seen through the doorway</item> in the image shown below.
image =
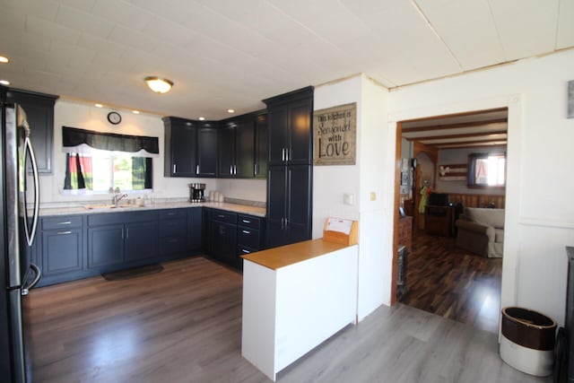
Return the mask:
[[[473,153],[468,156],[468,187],[504,187],[506,153]]]

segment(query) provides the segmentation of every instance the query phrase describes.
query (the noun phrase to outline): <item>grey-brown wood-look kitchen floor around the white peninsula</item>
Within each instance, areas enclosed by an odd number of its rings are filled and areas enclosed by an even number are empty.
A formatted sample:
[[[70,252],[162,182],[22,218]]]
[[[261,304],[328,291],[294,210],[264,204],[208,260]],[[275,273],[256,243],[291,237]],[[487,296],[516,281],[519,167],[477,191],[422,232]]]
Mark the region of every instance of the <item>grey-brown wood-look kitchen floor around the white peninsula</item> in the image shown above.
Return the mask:
[[[42,287],[27,309],[35,382],[269,382],[241,357],[241,275],[204,257],[159,274]],[[302,313],[304,315],[304,313]],[[382,306],[279,382],[549,382],[500,360],[497,336]]]

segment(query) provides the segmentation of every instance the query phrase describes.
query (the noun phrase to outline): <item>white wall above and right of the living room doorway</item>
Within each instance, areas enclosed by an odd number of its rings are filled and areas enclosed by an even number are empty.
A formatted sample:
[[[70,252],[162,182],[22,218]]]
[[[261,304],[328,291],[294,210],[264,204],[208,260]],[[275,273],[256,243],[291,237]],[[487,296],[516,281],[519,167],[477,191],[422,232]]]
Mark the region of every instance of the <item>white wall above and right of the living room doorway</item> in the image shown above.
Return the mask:
[[[390,93],[392,123],[509,107],[502,306],[536,309],[563,324],[566,253],[574,245],[570,170],[574,119],[566,118],[574,50]],[[385,171],[392,171],[386,162]]]

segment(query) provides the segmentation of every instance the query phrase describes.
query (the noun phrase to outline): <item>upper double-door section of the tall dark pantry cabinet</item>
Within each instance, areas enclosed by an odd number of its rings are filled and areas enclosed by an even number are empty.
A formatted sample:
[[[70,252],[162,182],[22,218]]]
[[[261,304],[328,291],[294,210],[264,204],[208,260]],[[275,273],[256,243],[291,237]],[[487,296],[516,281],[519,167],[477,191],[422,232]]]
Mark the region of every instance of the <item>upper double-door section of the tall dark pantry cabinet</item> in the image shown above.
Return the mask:
[[[312,164],[313,88],[263,101],[268,109],[269,165]]]

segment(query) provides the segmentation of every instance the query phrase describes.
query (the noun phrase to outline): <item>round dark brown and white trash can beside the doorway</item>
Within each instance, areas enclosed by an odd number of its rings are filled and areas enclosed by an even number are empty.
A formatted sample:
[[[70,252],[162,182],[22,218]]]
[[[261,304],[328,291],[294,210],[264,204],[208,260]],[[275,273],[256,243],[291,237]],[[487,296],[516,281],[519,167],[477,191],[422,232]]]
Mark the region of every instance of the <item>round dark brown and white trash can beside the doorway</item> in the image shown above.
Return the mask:
[[[502,309],[500,358],[517,370],[544,377],[552,374],[556,322],[531,309]]]

